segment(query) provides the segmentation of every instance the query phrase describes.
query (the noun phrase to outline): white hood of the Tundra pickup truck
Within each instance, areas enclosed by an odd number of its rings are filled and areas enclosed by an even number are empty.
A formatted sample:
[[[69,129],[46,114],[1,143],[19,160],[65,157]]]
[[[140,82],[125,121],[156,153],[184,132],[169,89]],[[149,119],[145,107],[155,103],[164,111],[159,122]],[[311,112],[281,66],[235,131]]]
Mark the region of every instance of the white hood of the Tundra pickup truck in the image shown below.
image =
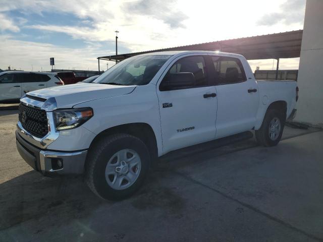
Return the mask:
[[[54,97],[58,108],[70,108],[81,102],[126,95],[131,93],[135,88],[136,86],[78,83],[40,89],[28,92],[28,95],[44,99]]]

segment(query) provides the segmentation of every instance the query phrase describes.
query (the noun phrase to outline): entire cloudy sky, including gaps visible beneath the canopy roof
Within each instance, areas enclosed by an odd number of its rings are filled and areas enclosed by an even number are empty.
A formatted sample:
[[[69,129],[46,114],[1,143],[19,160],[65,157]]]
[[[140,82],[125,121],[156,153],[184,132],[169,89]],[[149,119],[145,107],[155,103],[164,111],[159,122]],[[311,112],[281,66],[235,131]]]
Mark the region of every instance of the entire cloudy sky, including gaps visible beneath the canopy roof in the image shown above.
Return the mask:
[[[0,69],[49,71],[55,57],[56,69],[97,70],[97,56],[115,54],[116,30],[118,53],[129,53],[299,30],[304,13],[305,0],[0,0]]]

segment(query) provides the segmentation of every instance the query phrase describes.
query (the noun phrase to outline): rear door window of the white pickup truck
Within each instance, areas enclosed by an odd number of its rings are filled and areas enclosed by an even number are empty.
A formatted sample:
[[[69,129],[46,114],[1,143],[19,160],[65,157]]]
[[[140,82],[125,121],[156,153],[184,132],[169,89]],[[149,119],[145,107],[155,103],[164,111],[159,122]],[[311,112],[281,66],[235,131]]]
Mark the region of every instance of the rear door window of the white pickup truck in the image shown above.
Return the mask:
[[[216,70],[217,84],[231,84],[247,80],[238,58],[212,56],[212,61]]]

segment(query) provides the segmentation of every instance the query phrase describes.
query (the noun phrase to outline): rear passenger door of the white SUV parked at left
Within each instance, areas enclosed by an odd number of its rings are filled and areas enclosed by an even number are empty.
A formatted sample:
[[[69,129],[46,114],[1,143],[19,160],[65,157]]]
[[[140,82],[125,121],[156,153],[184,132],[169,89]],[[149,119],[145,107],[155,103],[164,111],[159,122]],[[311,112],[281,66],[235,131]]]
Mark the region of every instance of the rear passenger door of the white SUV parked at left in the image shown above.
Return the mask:
[[[47,87],[46,78],[42,74],[36,74],[36,73],[24,73],[22,74],[22,92],[27,93],[34,90],[42,89]],[[48,79],[47,79],[48,81]]]

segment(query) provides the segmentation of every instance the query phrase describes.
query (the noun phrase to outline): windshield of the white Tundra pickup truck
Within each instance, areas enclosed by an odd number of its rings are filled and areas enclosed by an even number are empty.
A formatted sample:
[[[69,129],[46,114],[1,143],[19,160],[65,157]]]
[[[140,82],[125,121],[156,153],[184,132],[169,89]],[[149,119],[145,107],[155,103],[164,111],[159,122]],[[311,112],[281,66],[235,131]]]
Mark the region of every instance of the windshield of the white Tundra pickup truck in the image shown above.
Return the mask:
[[[113,66],[93,83],[113,85],[146,85],[171,55],[144,55],[125,59]]]

